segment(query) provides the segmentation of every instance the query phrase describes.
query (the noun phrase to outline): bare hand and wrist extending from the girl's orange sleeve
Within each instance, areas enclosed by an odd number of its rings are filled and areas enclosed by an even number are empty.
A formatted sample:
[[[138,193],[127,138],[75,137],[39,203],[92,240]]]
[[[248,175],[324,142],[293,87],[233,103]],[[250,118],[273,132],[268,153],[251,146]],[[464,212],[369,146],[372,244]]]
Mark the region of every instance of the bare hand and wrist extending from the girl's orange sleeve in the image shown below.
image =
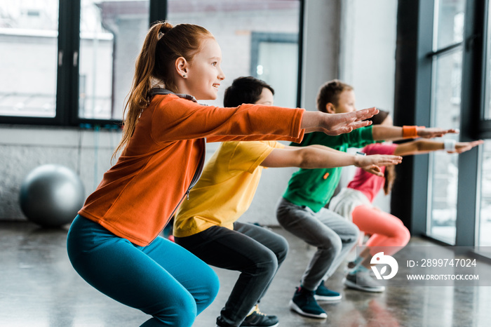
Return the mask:
[[[378,112],[375,107],[344,114],[306,111],[300,127],[305,129],[305,133],[323,132],[327,135],[339,135],[372,124],[371,121],[365,121],[364,119],[368,119]]]

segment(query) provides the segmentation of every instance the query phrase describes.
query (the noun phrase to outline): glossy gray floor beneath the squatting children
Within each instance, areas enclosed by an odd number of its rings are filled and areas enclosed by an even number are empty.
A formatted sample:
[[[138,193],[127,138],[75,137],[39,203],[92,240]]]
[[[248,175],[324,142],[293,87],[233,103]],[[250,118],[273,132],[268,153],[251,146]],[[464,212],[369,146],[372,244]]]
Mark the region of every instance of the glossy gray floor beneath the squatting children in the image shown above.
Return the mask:
[[[323,304],[328,319],[307,319],[288,302],[314,249],[274,229],[290,253],[261,309],[280,317],[280,326],[490,326],[490,287],[390,287],[372,294],[343,288],[340,267],[328,287],[344,298]],[[145,314],[125,307],[88,286],[72,269],[65,251],[67,229],[40,229],[24,222],[0,223],[0,326],[140,326]],[[428,242],[413,238],[411,245]],[[400,267],[401,269],[401,267]],[[221,288],[213,305],[194,323],[214,327],[236,272],[216,269]]]

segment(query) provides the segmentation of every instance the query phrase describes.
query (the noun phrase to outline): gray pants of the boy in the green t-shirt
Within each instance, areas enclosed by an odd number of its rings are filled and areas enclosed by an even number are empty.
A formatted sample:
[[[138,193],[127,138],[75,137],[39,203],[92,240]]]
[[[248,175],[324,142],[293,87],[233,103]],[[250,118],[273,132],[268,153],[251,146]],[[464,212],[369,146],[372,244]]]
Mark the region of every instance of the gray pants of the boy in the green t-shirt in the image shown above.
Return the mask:
[[[302,286],[311,291],[335,272],[358,240],[358,227],[326,208],[315,213],[281,198],[276,218],[281,227],[317,248],[302,276]]]

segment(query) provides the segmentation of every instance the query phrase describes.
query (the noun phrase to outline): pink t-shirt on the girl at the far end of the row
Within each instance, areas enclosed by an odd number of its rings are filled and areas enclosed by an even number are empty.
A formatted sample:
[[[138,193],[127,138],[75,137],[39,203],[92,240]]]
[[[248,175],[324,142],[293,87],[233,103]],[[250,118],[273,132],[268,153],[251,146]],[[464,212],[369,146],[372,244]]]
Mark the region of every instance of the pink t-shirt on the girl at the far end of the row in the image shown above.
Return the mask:
[[[395,144],[387,144],[387,143],[374,143],[371,145],[367,145],[363,148],[362,152],[365,152],[367,155],[370,154],[394,154],[396,151],[397,145]],[[385,172],[385,167],[382,168],[382,173]],[[379,177],[377,175],[373,175],[371,173],[367,173],[363,171],[363,169],[356,169],[356,173],[354,175],[353,180],[349,182],[348,188],[357,189],[360,192],[363,192],[365,196],[373,202],[375,196],[379,193],[380,189],[384,187],[385,178]]]

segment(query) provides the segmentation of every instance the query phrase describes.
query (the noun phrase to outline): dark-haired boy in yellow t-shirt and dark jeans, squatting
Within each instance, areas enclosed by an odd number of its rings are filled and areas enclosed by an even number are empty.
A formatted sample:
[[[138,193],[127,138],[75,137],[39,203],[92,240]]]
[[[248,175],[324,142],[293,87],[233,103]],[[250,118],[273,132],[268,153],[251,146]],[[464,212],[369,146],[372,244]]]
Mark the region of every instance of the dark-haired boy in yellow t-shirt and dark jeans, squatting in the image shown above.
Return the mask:
[[[241,77],[225,91],[224,106],[273,105],[274,90],[253,77]],[[223,142],[206,163],[199,182],[175,215],[175,242],[201,260],[241,275],[217,318],[217,326],[278,326],[276,316],[262,314],[257,303],[285,260],[288,243],[269,229],[237,222],[253,201],[262,168],[329,168],[355,165],[379,173],[399,156],[354,156],[314,145],[288,147],[276,141]],[[358,229],[353,225],[353,233]],[[335,293],[329,296],[336,298]]]

